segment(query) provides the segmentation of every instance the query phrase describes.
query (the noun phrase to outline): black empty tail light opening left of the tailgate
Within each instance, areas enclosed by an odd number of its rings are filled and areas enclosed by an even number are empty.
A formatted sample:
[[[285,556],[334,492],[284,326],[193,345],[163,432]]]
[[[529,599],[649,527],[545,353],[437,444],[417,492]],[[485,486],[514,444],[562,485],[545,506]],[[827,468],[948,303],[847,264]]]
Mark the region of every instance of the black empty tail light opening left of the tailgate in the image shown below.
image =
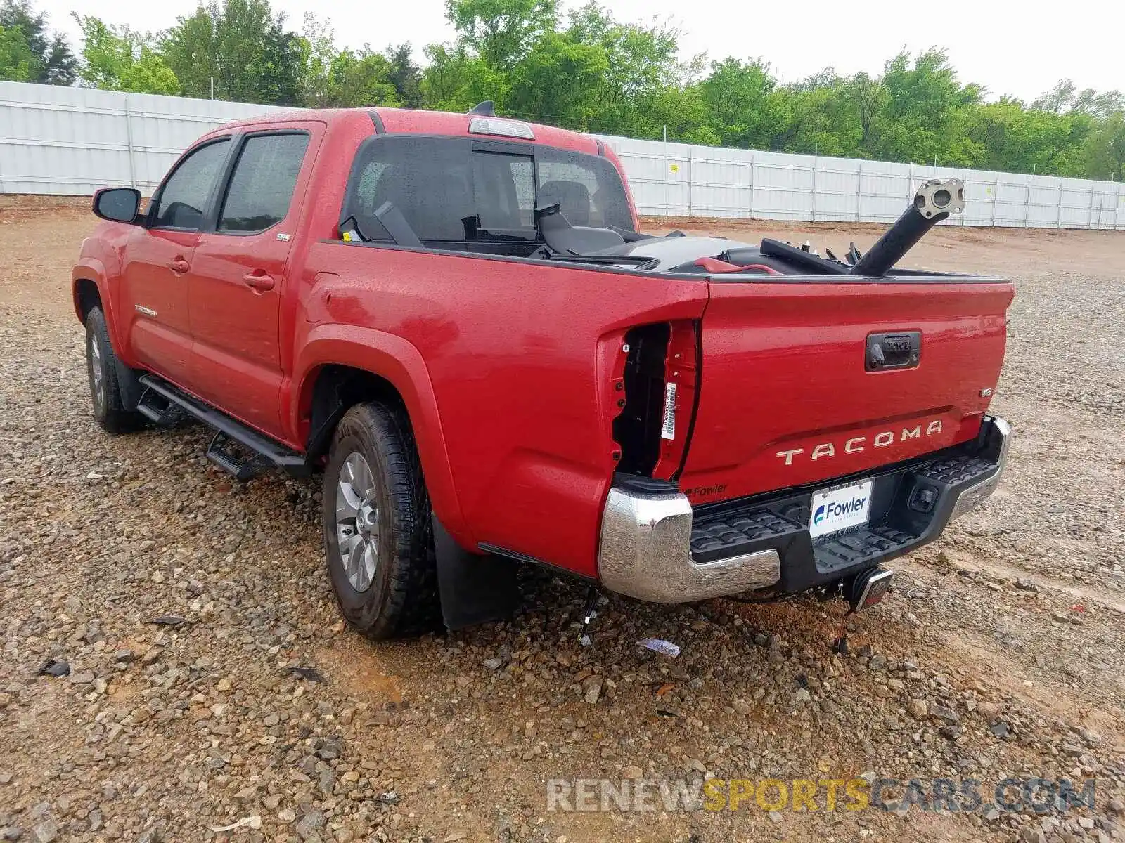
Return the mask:
[[[641,325],[626,334],[626,402],[613,419],[613,439],[621,446],[619,472],[651,477],[660,457],[664,370],[670,334],[667,323]]]

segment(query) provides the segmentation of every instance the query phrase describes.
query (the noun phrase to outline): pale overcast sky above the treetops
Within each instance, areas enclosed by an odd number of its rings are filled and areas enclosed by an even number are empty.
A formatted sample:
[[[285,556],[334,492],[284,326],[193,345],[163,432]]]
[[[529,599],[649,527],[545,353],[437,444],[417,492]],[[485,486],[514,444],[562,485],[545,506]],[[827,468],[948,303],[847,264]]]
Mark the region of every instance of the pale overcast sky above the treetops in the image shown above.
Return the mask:
[[[564,0],[569,6],[575,0]],[[299,29],[306,11],[327,18],[341,46],[364,42],[381,49],[411,42],[421,57],[428,43],[448,40],[443,0],[272,0]],[[1070,0],[609,0],[619,20],[672,18],[683,30],[685,57],[760,56],[783,82],[834,66],[842,75],[878,73],[906,46],[911,52],[946,47],[963,82],[986,85],[992,98],[1010,93],[1032,100],[1059,79],[1078,88],[1125,90],[1125,2]],[[192,0],[37,0],[52,24],[78,42],[71,10],[136,29],[163,29],[190,13]]]

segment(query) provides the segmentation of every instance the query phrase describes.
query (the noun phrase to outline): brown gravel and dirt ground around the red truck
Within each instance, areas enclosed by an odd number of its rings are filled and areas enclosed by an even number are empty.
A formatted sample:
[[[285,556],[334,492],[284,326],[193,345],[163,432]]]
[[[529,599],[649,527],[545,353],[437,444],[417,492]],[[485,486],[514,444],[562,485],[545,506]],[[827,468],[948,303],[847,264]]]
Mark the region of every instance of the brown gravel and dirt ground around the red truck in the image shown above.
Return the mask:
[[[582,646],[583,589],[542,572],[511,624],[372,644],[340,623],[317,482],[232,483],[199,427],[94,426],[69,301],[92,220],[10,206],[0,840],[1125,839],[1125,236],[945,228],[911,255],[1017,279],[993,405],[1016,439],[989,505],[848,620],[849,654],[843,606],[813,600],[612,598]],[[808,230],[837,251],[853,229]],[[70,674],[37,676],[50,659]],[[1095,777],[1096,807],[565,813],[544,789],[864,773]]]

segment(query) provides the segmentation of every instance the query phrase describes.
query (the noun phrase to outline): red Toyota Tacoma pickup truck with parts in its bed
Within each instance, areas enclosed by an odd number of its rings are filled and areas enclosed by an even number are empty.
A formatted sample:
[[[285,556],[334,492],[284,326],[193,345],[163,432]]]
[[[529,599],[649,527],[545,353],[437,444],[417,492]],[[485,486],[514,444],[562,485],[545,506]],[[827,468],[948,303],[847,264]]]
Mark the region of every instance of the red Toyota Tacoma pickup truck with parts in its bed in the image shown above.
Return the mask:
[[[396,109],[235,123],[73,271],[109,433],[197,419],[238,479],[323,472],[344,616],[503,616],[516,563],[641,600],[875,602],[881,563],[994,488],[1012,285],[896,270],[963,206],[924,184],[866,254],[638,232],[613,151]]]

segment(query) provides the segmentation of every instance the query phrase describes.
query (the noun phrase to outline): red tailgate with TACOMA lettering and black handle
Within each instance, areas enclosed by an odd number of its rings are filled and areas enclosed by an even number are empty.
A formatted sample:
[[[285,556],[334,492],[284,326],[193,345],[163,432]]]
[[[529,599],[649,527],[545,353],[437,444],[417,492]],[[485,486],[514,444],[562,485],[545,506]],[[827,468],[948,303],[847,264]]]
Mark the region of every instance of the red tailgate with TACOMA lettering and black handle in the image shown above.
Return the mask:
[[[1012,296],[1007,281],[954,277],[712,281],[681,489],[692,504],[726,500],[972,438],[1004,362]],[[916,362],[872,368],[872,335],[897,343],[911,332]]]

